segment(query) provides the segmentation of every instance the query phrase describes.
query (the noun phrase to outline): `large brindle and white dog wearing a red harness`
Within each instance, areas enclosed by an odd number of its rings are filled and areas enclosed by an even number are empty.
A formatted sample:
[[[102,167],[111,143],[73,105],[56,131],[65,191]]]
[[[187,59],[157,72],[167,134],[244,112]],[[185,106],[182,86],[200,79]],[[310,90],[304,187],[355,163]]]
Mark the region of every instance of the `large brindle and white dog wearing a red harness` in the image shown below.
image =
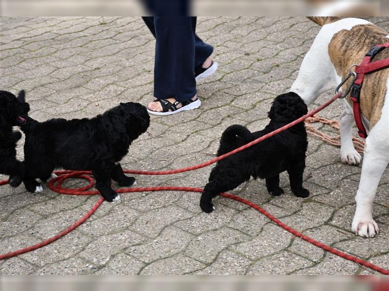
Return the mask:
[[[389,42],[388,32],[363,19],[308,18],[322,28],[305,55],[299,75],[290,90],[299,94],[307,105],[314,102],[320,93],[340,83],[348,75],[350,66],[359,65],[372,47]],[[385,58],[389,58],[389,49],[379,52],[373,61]],[[372,217],[372,208],[378,183],[389,163],[388,77],[389,69],[366,75],[360,95],[362,120],[369,135],[366,139],[351,228],[355,234],[362,237],[374,237],[378,233],[378,226]],[[343,92],[349,83],[350,81],[343,85]],[[361,156],[354,149],[352,142],[354,115],[349,97],[344,99],[346,108],[340,119],[340,159],[343,163],[354,165],[361,161]]]

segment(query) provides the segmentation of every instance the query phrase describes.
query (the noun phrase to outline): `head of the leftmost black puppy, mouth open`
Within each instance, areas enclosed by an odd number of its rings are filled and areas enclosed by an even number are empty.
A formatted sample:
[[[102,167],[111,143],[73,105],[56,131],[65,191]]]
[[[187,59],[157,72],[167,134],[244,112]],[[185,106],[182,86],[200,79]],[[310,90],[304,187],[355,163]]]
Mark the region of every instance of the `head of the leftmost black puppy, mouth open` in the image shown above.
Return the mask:
[[[24,100],[24,91],[18,98],[8,91],[0,91],[0,124],[1,126],[21,126],[26,122],[23,116],[30,111],[30,105]]]

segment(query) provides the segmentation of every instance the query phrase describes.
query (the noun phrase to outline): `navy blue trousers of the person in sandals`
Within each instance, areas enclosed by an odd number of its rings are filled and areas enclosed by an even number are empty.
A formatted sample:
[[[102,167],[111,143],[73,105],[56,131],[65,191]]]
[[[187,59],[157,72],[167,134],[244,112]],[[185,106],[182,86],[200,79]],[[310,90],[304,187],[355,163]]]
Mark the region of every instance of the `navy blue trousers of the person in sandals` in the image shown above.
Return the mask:
[[[212,54],[212,46],[195,33],[196,17],[142,17],[156,38],[154,97],[186,101],[196,95],[195,66]]]

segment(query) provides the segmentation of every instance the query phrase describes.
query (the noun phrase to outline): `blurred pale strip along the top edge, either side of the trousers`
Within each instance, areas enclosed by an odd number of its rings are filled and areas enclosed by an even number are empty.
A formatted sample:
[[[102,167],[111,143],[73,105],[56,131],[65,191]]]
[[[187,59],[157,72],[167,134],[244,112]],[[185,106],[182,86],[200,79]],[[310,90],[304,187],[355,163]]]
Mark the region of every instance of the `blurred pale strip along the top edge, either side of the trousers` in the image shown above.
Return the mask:
[[[0,16],[144,16],[141,1],[0,0]],[[387,6],[383,0],[192,0],[191,15],[385,16]]]

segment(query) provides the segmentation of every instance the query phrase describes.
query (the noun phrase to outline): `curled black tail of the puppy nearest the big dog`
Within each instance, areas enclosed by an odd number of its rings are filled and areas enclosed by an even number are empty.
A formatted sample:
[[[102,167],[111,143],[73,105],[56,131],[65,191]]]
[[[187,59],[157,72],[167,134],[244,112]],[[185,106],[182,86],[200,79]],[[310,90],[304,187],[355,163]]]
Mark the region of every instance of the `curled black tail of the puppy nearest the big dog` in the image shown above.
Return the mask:
[[[217,156],[224,155],[225,153],[243,146],[254,140],[254,136],[242,125],[234,124],[224,130],[222,137],[220,138],[220,147],[217,151]]]

